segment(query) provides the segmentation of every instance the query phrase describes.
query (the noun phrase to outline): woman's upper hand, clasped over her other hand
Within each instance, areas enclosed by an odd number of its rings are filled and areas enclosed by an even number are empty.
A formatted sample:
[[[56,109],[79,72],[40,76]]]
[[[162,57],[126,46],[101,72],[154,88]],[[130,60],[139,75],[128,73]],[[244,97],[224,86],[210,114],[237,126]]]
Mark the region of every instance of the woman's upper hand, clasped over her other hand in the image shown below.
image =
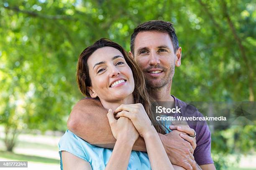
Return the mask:
[[[120,105],[116,108],[115,113],[117,113],[116,117],[128,117],[131,119],[142,138],[156,131],[154,126],[151,125],[151,120],[141,103]]]

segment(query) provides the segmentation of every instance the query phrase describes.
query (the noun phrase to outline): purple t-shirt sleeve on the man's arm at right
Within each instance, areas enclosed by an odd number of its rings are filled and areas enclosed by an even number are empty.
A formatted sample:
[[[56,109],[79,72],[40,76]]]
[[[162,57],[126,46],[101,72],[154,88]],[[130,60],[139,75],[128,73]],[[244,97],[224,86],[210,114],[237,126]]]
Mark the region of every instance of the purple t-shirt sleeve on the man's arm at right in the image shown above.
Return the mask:
[[[200,113],[201,114],[201,113]],[[211,157],[211,133],[207,122],[197,126],[197,147],[194,151],[194,158],[198,165],[212,164]]]

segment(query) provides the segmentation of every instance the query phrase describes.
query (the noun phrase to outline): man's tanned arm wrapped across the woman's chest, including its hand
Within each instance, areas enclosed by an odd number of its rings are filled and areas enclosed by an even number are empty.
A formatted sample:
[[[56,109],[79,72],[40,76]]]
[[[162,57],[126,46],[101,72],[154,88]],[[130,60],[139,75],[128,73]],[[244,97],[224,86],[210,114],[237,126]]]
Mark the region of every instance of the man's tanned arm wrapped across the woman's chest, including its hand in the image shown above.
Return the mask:
[[[103,148],[114,148],[115,138],[110,129],[107,118],[108,110],[104,109],[100,101],[93,99],[84,99],[77,102],[70,113],[67,127],[74,134],[92,145]],[[179,134],[169,133],[159,134],[164,145],[166,153],[172,164],[184,167],[187,170],[192,169],[189,163],[193,161],[191,145],[182,139]],[[133,150],[146,152],[146,145],[143,138],[133,145]]]

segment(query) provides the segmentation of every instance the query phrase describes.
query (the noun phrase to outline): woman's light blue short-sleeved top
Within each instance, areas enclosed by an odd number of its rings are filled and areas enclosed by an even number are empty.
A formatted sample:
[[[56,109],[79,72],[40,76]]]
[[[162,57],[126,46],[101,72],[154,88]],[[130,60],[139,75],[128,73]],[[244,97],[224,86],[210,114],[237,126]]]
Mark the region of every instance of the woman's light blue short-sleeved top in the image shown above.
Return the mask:
[[[165,126],[168,127],[169,125],[165,124]],[[166,130],[166,132],[169,133],[168,130]],[[66,131],[59,141],[61,170],[63,170],[61,158],[62,150],[72,153],[73,155],[89,162],[93,170],[104,170],[113,152],[113,149],[91,145],[69,130]],[[131,152],[127,170],[151,170],[148,154],[146,152],[133,150]]]

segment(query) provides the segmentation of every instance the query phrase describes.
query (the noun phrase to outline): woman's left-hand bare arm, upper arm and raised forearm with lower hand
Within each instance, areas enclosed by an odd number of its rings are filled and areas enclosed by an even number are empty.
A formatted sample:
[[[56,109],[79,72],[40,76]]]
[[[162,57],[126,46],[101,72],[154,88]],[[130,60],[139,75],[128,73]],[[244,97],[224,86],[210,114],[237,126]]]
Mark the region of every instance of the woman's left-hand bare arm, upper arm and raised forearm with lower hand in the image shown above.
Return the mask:
[[[110,125],[116,124],[117,140],[105,170],[127,170],[133,144],[139,136],[138,132],[129,118],[121,117],[115,120],[113,113],[112,117],[108,117]],[[62,151],[61,157],[64,170],[92,170],[90,163],[67,151]]]

